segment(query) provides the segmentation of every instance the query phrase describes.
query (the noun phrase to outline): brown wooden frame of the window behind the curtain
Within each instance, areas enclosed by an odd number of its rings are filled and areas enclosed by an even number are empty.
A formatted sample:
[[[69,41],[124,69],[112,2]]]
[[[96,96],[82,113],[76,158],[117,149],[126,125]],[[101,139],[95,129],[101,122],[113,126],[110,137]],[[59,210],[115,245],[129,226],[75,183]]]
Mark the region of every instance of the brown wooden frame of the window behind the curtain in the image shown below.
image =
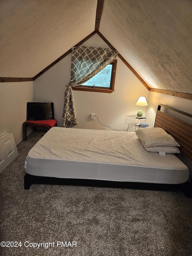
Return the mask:
[[[106,89],[105,89],[104,87],[98,87],[98,86],[92,88],[92,87],[88,87],[88,86],[85,86],[85,85],[72,86],[71,88],[74,91],[105,92],[105,93],[115,92],[114,88],[115,88],[115,77],[116,77],[117,60],[114,59],[110,64],[112,64],[110,88],[106,87]]]

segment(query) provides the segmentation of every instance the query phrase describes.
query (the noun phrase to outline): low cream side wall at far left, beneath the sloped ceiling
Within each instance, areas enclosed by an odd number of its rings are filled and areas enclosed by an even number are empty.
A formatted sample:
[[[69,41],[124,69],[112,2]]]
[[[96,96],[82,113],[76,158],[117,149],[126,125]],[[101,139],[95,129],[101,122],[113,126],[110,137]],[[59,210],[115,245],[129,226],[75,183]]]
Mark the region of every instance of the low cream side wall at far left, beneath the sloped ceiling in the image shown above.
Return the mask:
[[[0,83],[0,136],[13,133],[16,144],[23,139],[28,101],[33,101],[33,81]]]

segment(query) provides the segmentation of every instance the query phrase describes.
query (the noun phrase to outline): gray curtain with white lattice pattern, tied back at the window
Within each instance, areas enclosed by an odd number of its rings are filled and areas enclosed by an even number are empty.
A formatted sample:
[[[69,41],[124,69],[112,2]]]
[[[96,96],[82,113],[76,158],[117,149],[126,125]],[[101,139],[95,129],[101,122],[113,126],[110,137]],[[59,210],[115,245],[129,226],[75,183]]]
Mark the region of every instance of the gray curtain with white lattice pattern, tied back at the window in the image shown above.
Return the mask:
[[[72,47],[71,80],[64,97],[64,127],[73,127],[77,124],[71,87],[87,82],[110,64],[118,54],[117,51],[107,48]]]

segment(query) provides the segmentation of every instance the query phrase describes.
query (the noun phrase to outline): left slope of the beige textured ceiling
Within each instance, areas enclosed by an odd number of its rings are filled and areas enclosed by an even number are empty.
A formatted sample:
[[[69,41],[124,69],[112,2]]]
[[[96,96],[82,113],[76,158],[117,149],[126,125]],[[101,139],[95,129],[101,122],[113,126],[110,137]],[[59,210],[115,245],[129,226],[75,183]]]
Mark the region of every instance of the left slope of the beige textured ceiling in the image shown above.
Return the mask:
[[[95,29],[97,0],[0,0],[0,77],[34,77]]]

